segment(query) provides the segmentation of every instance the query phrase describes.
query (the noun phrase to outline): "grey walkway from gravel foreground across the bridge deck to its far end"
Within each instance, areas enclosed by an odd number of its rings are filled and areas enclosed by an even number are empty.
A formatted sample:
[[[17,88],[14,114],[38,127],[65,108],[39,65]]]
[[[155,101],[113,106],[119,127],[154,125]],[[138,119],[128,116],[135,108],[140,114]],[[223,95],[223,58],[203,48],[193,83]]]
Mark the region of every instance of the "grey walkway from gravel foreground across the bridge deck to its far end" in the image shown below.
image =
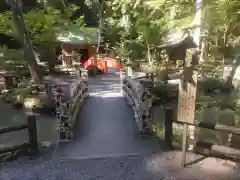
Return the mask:
[[[114,75],[90,80],[91,96],[76,124],[75,139],[56,156],[0,164],[0,180],[239,180],[225,161],[206,158],[179,168],[180,152],[161,152],[142,139]],[[188,154],[188,162],[201,158]]]

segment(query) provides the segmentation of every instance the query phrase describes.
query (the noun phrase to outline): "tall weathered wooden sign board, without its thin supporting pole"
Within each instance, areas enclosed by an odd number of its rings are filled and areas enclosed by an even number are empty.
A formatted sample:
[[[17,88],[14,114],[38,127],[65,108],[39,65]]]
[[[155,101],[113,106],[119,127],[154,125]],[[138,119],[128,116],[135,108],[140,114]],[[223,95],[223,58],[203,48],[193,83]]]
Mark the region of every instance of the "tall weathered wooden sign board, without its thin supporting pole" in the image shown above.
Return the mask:
[[[189,73],[185,73],[185,71],[188,70],[189,69],[184,70],[183,74],[185,74],[185,77],[182,77],[179,82],[177,120],[186,123],[193,123],[197,92],[197,72],[192,71],[190,76]],[[185,88],[182,85],[183,83],[185,83]]]

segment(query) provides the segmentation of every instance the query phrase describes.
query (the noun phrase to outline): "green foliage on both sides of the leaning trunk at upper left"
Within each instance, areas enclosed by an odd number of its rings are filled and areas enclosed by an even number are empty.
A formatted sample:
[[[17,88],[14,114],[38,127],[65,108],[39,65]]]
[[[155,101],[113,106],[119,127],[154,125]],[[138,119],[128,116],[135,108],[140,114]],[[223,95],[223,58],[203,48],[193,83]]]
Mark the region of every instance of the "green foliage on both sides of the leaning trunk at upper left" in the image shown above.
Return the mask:
[[[48,49],[56,43],[56,32],[59,29],[71,26],[73,24],[79,27],[85,26],[84,17],[80,16],[71,20],[72,14],[80,9],[79,6],[69,4],[64,8],[64,12],[52,7],[53,1],[47,1],[44,8],[35,8],[24,14],[24,21],[29,35],[34,44]],[[12,13],[0,13],[0,33],[17,36],[15,25],[12,23]]]

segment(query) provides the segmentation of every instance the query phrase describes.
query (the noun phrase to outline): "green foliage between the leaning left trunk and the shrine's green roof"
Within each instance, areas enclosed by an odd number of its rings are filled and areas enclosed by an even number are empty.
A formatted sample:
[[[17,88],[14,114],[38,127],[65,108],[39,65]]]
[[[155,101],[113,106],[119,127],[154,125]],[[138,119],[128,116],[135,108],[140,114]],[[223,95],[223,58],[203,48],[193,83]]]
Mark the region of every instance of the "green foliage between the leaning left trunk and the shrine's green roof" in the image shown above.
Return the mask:
[[[59,29],[67,28],[73,24],[83,27],[85,23],[82,16],[73,21],[70,20],[72,14],[79,8],[75,5],[69,5],[65,8],[64,14],[52,7],[26,13],[24,18],[33,42],[43,49],[53,48],[57,43],[56,34]]]

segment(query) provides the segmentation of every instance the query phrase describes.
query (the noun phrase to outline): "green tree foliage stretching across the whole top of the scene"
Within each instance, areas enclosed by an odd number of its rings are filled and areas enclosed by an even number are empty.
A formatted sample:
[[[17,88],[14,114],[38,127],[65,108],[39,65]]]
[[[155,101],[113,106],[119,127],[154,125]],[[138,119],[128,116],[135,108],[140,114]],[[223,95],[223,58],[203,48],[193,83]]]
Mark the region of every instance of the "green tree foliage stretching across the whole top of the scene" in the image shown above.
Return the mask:
[[[1,5],[0,33],[18,38],[13,11]],[[217,67],[239,52],[239,0],[202,0],[200,9],[196,0],[39,0],[24,1],[22,8],[31,42],[48,52],[56,46],[58,29],[95,24],[101,31],[99,42],[104,39],[99,47],[110,48],[124,62],[163,63],[159,45],[169,33],[193,32],[199,10],[203,62]],[[92,22],[85,24],[86,18]]]

